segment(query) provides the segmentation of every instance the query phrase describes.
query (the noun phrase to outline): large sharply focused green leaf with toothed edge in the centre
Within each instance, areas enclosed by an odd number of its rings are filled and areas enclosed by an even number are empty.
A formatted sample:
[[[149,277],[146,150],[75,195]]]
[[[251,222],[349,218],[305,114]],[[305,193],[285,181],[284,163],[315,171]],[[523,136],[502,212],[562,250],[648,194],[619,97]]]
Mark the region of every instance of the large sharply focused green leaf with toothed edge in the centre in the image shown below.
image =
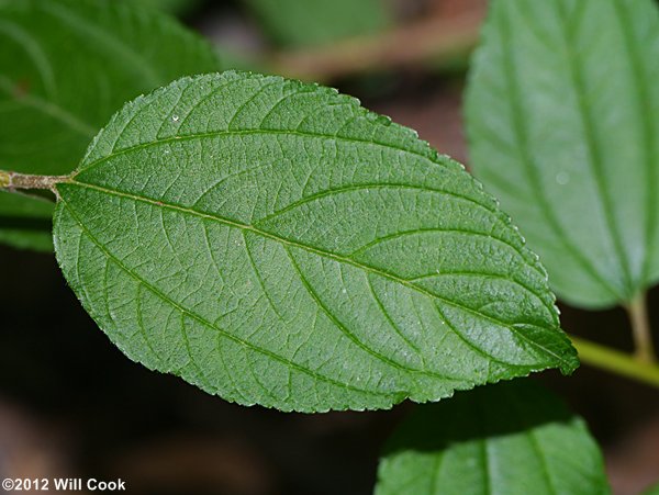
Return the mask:
[[[124,106],[57,191],[57,257],[99,326],[228,401],[381,408],[578,365],[495,201],[335,90],[183,78]]]

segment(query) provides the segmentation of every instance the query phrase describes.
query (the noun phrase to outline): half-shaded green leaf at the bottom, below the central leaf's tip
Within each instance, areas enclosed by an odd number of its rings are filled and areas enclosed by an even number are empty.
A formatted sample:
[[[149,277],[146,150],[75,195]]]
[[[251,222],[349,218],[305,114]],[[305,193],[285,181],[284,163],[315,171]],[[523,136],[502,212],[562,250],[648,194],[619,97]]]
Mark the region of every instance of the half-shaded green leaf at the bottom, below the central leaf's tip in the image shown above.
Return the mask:
[[[549,391],[515,380],[421,406],[390,438],[376,495],[603,495],[602,454]]]

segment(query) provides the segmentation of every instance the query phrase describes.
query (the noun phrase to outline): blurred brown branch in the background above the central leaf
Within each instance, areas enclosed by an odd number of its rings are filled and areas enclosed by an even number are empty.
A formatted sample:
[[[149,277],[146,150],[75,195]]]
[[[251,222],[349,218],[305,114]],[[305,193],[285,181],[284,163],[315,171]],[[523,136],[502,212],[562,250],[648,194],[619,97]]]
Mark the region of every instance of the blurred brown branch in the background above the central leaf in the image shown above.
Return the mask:
[[[383,34],[276,54],[272,70],[287,77],[323,81],[432,57],[449,58],[476,45],[483,16],[484,10],[474,8],[450,18],[432,16]]]

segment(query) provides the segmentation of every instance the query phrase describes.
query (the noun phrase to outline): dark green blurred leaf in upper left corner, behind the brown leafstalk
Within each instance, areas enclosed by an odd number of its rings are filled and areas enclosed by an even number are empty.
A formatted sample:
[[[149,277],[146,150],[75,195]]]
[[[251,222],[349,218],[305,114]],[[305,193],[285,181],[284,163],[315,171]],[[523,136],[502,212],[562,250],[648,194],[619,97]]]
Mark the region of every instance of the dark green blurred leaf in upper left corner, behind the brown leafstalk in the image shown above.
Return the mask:
[[[0,169],[25,173],[71,172],[126,100],[217,69],[201,38],[122,1],[0,0]],[[31,201],[0,192],[0,240],[47,249],[53,207],[22,221]]]

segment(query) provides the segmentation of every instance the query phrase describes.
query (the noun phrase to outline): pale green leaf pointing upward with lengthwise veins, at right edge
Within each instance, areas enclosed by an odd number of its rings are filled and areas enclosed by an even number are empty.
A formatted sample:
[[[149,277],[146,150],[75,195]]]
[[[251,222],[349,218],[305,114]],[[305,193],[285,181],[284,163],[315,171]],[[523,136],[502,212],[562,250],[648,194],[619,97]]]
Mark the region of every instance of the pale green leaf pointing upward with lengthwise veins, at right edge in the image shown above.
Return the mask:
[[[574,305],[659,279],[658,59],[651,0],[491,4],[467,92],[473,169]]]

